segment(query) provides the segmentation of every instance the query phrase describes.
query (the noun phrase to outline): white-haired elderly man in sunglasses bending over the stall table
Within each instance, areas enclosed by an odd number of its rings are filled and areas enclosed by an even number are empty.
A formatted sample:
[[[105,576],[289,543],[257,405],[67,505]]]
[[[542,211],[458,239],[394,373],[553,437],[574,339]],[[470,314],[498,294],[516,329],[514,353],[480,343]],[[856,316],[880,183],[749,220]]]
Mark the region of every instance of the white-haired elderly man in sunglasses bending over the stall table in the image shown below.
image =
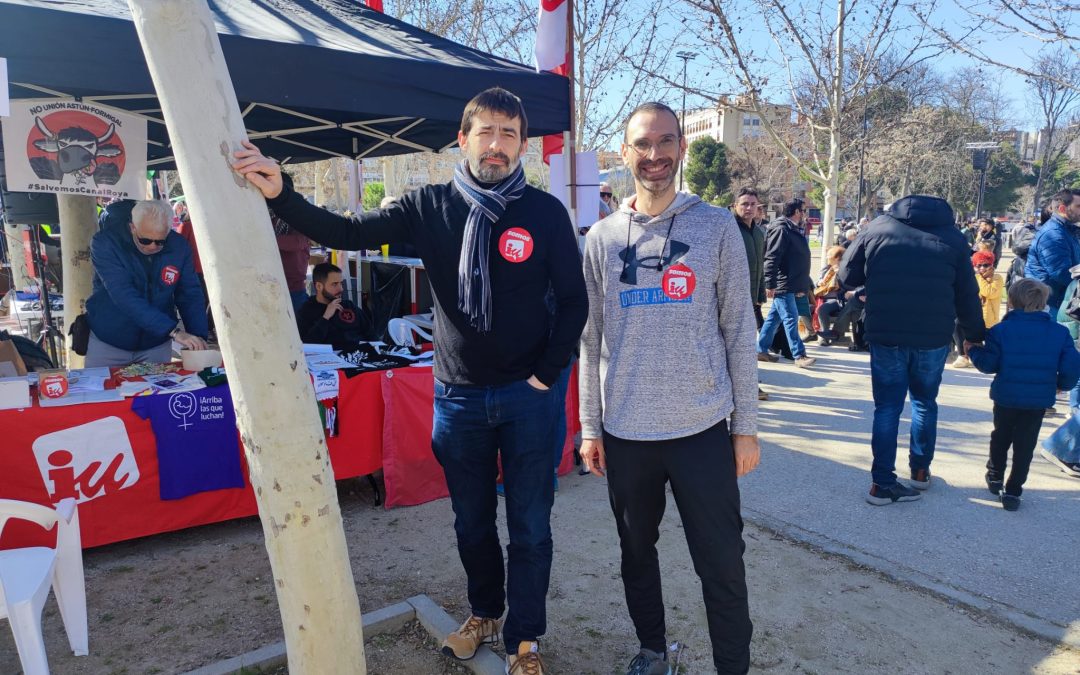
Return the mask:
[[[138,202],[126,227],[109,225],[94,235],[86,367],[167,363],[174,340],[206,348],[206,300],[191,247],[170,229],[172,218],[168,202]]]

